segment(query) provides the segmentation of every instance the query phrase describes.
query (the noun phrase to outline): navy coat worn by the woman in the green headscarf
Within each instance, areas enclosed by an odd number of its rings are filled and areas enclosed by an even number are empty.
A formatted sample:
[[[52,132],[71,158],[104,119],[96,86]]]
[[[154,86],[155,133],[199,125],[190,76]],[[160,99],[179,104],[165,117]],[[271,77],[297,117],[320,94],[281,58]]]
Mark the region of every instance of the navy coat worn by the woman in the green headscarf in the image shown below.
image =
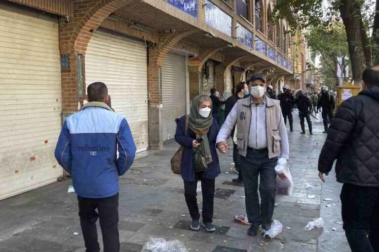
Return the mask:
[[[192,141],[194,140],[189,136],[184,135],[184,129],[186,125],[186,117],[176,119],[176,133],[175,140],[184,147],[182,157],[182,178],[184,181],[196,181],[195,171],[193,168],[193,151]],[[202,177],[205,179],[215,179],[220,173],[220,162],[216,151],[216,138],[219,133],[220,127],[216,120],[213,119],[211,128],[208,131],[208,140],[211,147],[211,155],[213,162],[208,165],[208,169],[203,172]]]

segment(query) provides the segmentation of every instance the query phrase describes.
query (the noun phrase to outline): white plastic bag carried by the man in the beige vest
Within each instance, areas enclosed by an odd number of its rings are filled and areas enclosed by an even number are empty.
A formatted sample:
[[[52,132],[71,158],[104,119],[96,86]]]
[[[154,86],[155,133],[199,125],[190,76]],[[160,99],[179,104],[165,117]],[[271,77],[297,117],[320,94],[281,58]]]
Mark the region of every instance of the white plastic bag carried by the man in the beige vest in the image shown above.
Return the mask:
[[[276,194],[291,195],[294,183],[285,158],[279,158],[275,171],[278,173],[276,177]]]

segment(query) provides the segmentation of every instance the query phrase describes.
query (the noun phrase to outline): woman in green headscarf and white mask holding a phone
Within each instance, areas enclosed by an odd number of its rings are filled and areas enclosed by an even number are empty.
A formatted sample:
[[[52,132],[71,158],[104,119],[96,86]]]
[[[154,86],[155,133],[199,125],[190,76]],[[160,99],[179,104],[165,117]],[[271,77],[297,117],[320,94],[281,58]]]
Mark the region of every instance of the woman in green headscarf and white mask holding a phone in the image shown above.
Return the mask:
[[[219,126],[212,117],[212,100],[207,95],[197,95],[193,98],[189,115],[189,128],[185,135],[186,116],[176,120],[175,140],[184,147],[182,157],[182,178],[184,181],[184,195],[192,222],[190,228],[198,230],[199,210],[196,200],[197,182],[201,181],[203,194],[202,221],[207,231],[216,230],[213,225],[213,197],[215,193],[215,179],[220,174],[220,163],[216,152],[216,138]],[[202,139],[202,141],[200,141]],[[199,140],[200,143],[197,141]],[[195,158],[201,150],[206,170],[199,171]],[[195,158],[195,161],[194,161]]]

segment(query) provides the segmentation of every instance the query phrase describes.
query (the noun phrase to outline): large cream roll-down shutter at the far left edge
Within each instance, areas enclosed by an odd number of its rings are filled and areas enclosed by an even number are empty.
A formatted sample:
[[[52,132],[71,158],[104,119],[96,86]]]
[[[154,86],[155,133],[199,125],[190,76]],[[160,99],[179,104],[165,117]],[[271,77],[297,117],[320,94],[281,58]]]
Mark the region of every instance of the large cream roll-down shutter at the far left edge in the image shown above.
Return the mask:
[[[56,17],[0,3],[0,199],[62,175],[59,59]]]

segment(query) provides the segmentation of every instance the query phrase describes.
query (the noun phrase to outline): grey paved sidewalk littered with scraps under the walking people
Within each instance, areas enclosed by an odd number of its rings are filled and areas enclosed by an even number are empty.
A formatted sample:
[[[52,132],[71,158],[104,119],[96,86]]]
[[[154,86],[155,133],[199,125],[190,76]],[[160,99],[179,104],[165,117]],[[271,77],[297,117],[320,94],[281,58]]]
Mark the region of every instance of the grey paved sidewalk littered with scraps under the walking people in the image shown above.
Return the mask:
[[[245,202],[241,197],[243,188],[230,184],[237,177],[230,168],[231,148],[227,155],[220,155],[222,174],[216,179],[214,211],[216,232],[207,233],[204,228],[189,230],[183,180],[170,169],[170,158],[178,149],[172,143],[165,151],[140,155],[120,178],[121,252],[140,252],[150,237],[183,241],[190,252],[350,251],[342,225],[337,223],[341,222],[341,185],[334,172],[327,183],[317,177],[318,155],[325,140],[322,122],[313,121],[313,136],[301,135],[295,112],[294,117],[295,132],[289,133],[289,162],[295,189],[291,196],[276,198],[274,219],[283,223],[283,232],[276,239],[249,237],[248,226],[233,221],[234,215],[245,213]],[[308,184],[312,188],[307,188]],[[57,182],[0,201],[0,252],[84,252],[76,194],[67,193],[69,185],[71,181]],[[323,229],[303,230],[308,221],[320,216],[325,221]],[[98,231],[101,240],[100,228]]]

